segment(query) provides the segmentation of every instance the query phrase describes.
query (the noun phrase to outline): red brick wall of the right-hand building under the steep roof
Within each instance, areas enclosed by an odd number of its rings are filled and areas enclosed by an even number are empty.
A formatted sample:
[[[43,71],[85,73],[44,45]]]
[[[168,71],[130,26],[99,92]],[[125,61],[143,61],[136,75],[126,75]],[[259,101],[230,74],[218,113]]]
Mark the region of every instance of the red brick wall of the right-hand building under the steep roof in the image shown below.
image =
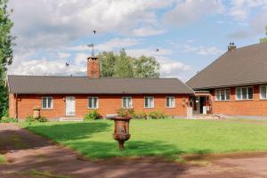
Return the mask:
[[[254,85],[253,100],[236,101],[236,87],[231,87],[231,101],[215,101],[213,91],[214,114],[231,116],[267,116],[267,101],[260,100],[259,85]]]

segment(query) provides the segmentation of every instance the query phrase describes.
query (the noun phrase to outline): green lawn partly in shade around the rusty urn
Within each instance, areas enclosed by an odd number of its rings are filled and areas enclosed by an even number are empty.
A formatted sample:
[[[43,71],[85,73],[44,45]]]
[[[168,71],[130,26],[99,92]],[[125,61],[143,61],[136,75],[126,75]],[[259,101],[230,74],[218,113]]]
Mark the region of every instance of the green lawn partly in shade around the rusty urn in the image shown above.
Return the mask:
[[[117,150],[113,121],[22,124],[36,134],[67,145],[88,158],[267,151],[267,125],[228,121],[160,119],[131,120],[131,139]]]

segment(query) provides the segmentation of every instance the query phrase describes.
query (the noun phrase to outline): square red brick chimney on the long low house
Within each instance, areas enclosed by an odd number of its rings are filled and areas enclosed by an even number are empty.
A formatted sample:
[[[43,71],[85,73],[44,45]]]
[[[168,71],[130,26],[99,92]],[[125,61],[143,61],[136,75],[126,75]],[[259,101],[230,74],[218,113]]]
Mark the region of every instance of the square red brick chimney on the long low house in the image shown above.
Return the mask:
[[[97,57],[87,58],[87,77],[100,78],[100,66]]]

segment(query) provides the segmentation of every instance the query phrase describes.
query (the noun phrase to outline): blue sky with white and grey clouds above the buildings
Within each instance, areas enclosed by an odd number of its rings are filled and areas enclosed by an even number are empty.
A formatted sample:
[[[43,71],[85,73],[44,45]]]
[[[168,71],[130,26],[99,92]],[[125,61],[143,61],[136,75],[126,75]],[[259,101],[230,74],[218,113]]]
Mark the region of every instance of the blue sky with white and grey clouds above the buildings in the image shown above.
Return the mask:
[[[267,25],[267,0],[10,0],[8,6],[14,75],[83,76],[92,55],[86,44],[94,44],[95,53],[125,48],[133,57],[154,56],[161,77],[185,82],[231,42],[259,43]]]

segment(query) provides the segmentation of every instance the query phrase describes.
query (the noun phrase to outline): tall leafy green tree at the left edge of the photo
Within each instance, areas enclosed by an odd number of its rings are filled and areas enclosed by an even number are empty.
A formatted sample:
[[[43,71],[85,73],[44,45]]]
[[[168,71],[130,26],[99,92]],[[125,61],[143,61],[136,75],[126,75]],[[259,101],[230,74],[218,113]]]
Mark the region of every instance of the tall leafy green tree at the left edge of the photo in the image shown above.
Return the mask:
[[[13,26],[10,12],[7,10],[8,0],[0,0],[0,117],[8,109],[8,92],[5,87],[7,65],[12,64],[11,29]]]

